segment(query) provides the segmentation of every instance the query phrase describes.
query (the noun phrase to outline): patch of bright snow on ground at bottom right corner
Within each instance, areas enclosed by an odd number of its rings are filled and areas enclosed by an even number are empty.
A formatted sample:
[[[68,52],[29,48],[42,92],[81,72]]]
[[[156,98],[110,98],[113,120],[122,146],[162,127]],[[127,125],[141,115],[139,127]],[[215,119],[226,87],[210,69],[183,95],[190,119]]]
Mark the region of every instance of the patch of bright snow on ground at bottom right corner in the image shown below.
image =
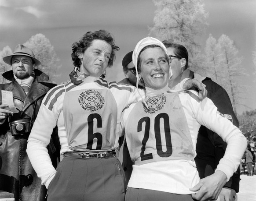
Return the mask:
[[[238,201],[256,201],[256,175],[241,174]]]

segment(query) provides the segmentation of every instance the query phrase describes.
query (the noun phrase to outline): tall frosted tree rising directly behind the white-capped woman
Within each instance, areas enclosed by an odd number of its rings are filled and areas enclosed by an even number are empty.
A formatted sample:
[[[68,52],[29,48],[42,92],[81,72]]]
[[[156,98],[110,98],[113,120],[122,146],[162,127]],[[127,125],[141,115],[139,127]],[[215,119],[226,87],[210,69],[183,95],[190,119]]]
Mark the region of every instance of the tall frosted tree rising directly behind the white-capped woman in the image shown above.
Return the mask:
[[[198,65],[199,44],[196,37],[205,32],[208,13],[202,0],[153,0],[157,7],[150,34],[160,40],[184,45],[190,55],[190,68]]]

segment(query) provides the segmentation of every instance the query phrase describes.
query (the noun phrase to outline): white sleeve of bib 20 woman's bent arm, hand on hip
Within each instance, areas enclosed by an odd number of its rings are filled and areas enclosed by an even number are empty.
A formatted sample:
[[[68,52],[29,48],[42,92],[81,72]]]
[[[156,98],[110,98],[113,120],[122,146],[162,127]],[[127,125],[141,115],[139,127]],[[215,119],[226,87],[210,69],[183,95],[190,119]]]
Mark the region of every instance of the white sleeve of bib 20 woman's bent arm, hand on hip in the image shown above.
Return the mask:
[[[195,100],[192,100],[195,103]],[[206,98],[201,102],[196,103],[198,108],[194,108],[195,118],[208,129],[217,133],[223,141],[227,142],[227,149],[223,158],[219,161],[216,170],[220,170],[226,174],[227,180],[237,170],[240,160],[245,152],[247,145],[246,138],[238,129],[218,112],[213,102]],[[215,170],[215,171],[216,171]]]

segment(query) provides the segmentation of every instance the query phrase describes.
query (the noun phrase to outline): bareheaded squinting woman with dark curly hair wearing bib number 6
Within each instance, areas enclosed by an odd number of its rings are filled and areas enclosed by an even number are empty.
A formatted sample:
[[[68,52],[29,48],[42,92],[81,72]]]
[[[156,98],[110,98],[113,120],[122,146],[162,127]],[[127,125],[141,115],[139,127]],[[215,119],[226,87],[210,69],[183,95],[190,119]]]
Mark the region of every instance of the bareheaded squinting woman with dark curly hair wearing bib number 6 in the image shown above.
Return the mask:
[[[119,122],[124,107],[145,96],[145,91],[139,89],[139,95],[133,86],[102,78],[106,68],[113,65],[117,50],[106,30],[86,32],[72,45],[71,81],[44,97],[27,153],[48,189],[48,201],[124,200],[124,170],[116,157]],[[205,89],[197,82],[205,97]],[[183,84],[190,86],[193,81],[184,81],[178,88]],[[45,146],[56,125],[62,161],[55,170]]]

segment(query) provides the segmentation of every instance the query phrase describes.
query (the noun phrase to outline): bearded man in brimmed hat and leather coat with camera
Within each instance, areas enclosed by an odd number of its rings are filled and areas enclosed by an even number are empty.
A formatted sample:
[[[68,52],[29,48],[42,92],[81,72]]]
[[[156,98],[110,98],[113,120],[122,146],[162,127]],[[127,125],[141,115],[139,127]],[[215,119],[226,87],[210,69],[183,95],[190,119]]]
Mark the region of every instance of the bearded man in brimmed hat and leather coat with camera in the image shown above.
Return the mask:
[[[40,61],[26,46],[17,45],[3,60],[12,70],[3,73],[11,82],[0,85],[0,190],[14,193],[16,201],[43,201],[47,191],[29,162],[26,146],[44,95],[55,84],[45,82],[48,75],[35,68]],[[17,113],[11,111],[11,103],[3,104],[2,91],[12,92]]]

